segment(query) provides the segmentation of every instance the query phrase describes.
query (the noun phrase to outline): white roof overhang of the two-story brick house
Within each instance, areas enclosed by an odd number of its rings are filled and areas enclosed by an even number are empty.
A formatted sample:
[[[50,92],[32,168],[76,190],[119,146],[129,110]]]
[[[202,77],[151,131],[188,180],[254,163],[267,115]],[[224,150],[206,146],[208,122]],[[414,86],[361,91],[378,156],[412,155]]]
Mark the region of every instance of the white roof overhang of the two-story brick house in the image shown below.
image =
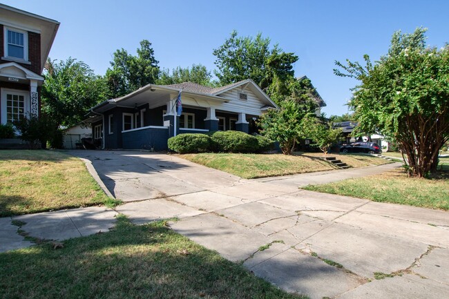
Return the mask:
[[[41,73],[56,37],[59,22],[0,3],[0,23],[41,35]]]

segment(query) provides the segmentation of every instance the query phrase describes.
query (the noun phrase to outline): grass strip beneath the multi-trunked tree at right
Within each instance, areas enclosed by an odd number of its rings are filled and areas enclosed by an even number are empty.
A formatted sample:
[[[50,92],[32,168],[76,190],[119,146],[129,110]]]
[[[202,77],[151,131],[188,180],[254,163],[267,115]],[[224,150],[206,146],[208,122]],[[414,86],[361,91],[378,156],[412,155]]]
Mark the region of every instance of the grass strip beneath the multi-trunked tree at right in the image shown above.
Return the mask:
[[[430,209],[449,210],[448,176],[432,180],[412,178],[402,169],[396,169],[381,175],[360,177],[323,185],[309,185],[303,189],[347,195],[374,202],[392,202],[422,206]]]

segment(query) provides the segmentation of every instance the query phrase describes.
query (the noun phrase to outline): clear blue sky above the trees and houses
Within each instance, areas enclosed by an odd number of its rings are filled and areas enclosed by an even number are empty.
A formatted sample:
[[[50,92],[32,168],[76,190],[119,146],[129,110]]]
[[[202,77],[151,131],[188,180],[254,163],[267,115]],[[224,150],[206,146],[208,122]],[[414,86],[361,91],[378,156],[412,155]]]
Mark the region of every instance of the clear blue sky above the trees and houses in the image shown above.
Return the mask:
[[[104,75],[113,52],[135,54],[142,39],[153,44],[162,68],[203,64],[213,70],[214,48],[232,30],[258,32],[294,52],[297,76],[307,75],[327,103],[329,115],[347,112],[345,103],[357,81],[336,77],[334,61],[372,60],[388,50],[394,31],[428,28],[428,44],[449,41],[449,1],[105,1],[3,0],[61,23],[52,59],[73,57]]]

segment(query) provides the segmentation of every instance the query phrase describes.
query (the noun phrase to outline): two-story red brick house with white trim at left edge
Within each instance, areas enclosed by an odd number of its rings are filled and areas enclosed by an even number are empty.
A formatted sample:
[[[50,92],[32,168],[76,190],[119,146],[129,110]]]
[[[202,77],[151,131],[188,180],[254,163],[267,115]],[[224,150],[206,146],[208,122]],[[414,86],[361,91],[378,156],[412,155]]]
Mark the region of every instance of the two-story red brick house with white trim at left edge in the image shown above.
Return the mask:
[[[59,22],[0,3],[0,123],[39,115],[42,70]]]

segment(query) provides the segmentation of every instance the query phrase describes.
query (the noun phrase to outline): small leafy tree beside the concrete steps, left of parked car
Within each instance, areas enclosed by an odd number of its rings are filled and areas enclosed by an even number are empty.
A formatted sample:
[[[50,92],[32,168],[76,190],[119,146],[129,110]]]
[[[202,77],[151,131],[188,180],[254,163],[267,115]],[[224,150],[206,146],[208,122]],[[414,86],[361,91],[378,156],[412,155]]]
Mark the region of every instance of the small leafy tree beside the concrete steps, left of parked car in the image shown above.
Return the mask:
[[[321,122],[315,115],[307,115],[301,121],[302,137],[312,139],[312,145],[318,146],[327,155],[329,147],[341,139],[341,128],[332,128],[332,123]]]

